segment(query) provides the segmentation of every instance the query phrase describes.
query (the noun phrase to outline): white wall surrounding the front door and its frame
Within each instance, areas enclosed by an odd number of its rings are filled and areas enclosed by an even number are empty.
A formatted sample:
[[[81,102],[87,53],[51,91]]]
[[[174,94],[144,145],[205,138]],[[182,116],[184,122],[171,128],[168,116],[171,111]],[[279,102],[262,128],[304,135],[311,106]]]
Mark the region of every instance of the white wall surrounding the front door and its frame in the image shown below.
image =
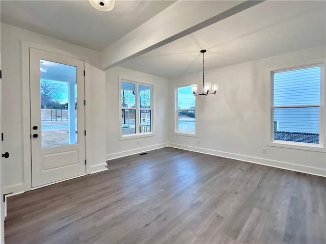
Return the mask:
[[[2,151],[10,152],[4,161],[5,193],[24,191],[23,119],[22,119],[22,55],[21,41],[40,44],[63,51],[71,57],[89,59],[86,83],[86,129],[88,172],[105,169],[105,73],[100,67],[99,52],[58,39],[1,23],[2,55]],[[26,135],[24,135],[26,136]],[[29,135],[27,135],[29,137]]]

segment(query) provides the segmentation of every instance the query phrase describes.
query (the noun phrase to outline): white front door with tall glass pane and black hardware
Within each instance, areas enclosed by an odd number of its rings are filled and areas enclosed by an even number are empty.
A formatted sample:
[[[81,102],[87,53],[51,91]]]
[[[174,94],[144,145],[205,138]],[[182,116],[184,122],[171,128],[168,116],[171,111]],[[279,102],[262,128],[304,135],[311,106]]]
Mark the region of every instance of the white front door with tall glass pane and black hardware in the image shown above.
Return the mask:
[[[30,48],[32,187],[86,173],[84,61]]]

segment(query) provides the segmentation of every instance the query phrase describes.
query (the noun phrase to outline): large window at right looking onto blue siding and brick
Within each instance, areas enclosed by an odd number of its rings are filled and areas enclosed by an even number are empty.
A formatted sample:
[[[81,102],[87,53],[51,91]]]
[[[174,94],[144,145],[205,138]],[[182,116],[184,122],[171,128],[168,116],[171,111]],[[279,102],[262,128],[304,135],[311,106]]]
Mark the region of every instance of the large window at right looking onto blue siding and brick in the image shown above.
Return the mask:
[[[318,65],[272,72],[274,141],[320,144],[321,70]]]

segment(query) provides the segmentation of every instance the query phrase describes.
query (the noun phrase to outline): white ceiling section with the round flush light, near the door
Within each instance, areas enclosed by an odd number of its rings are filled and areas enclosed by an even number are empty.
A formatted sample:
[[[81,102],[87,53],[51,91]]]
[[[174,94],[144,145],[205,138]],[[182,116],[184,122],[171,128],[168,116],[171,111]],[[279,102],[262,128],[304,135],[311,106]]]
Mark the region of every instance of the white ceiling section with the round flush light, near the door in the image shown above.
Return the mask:
[[[101,51],[175,1],[116,1],[112,11],[89,1],[1,1],[1,21]]]

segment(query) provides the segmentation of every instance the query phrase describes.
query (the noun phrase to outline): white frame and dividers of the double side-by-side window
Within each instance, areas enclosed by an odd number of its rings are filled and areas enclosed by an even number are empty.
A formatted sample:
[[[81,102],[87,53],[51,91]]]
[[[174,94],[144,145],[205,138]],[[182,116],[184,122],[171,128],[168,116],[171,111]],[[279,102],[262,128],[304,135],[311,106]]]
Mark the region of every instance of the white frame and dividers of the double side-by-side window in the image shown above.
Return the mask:
[[[135,107],[122,107],[122,99],[121,99],[121,88],[122,88],[122,82],[128,82],[135,85]],[[149,86],[150,87],[150,108],[141,108],[139,104],[139,85],[143,86]],[[118,97],[119,97],[119,140],[129,140],[129,139],[137,139],[137,138],[143,138],[143,137],[152,137],[155,135],[154,133],[154,86],[152,84],[147,84],[144,82],[137,82],[134,79],[128,78],[128,77],[120,77],[119,76],[119,90],[118,90]],[[122,110],[128,109],[128,110],[134,110],[135,111],[135,133],[134,134],[122,134]],[[140,111],[141,110],[148,110],[151,112],[151,131],[150,132],[143,132],[140,133]]]

